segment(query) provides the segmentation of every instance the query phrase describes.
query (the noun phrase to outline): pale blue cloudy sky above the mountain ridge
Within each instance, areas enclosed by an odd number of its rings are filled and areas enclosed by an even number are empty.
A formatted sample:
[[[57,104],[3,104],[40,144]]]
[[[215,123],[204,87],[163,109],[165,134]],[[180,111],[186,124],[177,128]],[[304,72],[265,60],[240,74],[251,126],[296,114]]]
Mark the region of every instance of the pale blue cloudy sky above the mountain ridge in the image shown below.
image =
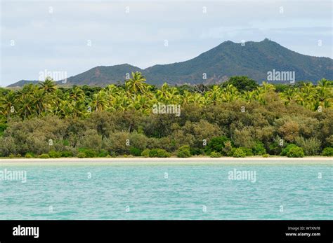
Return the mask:
[[[332,1],[0,0],[0,85],[96,66],[189,60],[223,41],[333,57]]]

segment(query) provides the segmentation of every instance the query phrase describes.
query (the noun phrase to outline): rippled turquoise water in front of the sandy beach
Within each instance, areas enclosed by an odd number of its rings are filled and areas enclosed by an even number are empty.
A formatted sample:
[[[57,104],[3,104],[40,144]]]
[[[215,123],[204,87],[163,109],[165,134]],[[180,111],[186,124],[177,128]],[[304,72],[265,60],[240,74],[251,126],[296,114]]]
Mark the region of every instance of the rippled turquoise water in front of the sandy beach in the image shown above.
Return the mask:
[[[0,181],[0,219],[333,219],[331,165],[4,169],[25,170],[27,182]],[[228,179],[233,169],[256,172],[256,181]]]

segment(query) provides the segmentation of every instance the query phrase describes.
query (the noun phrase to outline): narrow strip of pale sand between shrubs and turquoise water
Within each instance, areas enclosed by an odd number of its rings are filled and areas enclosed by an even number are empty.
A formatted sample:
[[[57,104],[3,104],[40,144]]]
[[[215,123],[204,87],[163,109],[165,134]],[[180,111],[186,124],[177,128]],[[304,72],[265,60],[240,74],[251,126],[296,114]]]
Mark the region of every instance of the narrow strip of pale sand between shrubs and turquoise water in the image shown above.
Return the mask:
[[[333,165],[332,157],[306,158],[12,158],[1,165]]]

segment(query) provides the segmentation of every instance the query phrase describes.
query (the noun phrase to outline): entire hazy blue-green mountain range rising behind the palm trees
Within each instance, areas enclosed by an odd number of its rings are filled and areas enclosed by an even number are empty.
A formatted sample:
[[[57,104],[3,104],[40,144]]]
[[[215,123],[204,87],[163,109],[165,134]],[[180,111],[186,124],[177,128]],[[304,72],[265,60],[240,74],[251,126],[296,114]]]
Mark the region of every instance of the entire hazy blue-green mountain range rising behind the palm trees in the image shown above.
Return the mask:
[[[302,55],[268,39],[248,41],[243,46],[241,43],[225,41],[185,62],[155,65],[147,69],[129,64],[94,67],[67,78],[66,85],[105,86],[123,82],[126,74],[132,71],[140,71],[148,83],[155,85],[164,82],[171,85],[221,83],[230,76],[248,76],[261,83],[267,80],[269,71],[294,71],[295,81],[316,82],[321,78],[333,79],[333,60],[329,57]],[[271,82],[283,83],[283,80]],[[22,81],[19,81],[9,86],[21,85]]]

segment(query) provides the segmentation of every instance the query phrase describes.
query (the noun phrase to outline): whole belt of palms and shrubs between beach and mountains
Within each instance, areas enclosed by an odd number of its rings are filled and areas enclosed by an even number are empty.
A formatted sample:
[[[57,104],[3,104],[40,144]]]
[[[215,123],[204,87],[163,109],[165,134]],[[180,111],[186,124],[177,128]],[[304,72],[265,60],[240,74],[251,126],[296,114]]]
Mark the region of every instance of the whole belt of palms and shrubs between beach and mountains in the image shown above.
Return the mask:
[[[1,156],[333,155],[333,82],[325,79],[156,88],[134,73],[105,88],[46,79],[0,93]],[[153,113],[156,104],[181,105],[181,114]]]

